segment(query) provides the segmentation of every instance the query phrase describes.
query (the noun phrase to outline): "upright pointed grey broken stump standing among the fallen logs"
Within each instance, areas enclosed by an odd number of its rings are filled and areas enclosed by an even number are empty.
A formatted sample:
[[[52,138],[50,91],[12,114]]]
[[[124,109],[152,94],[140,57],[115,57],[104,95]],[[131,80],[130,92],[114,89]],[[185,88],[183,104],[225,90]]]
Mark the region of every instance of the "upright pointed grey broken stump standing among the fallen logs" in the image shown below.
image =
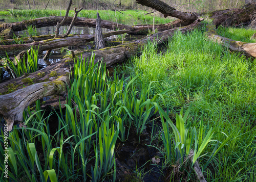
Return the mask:
[[[104,37],[101,31],[101,19],[98,12],[97,12],[94,42],[95,42],[95,49],[101,49],[105,47]]]

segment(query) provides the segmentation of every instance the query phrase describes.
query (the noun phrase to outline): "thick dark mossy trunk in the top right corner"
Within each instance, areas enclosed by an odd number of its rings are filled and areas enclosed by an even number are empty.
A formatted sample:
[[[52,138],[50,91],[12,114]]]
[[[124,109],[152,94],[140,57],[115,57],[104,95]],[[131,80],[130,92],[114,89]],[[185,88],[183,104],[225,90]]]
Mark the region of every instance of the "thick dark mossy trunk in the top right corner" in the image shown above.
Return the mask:
[[[212,23],[219,25],[248,25],[253,17],[256,17],[256,4],[248,4],[242,8],[232,8],[209,13]]]

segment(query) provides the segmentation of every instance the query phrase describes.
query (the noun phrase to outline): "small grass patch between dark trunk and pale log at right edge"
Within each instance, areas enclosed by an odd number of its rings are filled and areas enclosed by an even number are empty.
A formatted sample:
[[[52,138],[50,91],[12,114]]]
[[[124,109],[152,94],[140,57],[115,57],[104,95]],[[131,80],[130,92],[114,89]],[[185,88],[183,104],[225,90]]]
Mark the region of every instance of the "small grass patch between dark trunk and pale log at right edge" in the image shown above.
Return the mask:
[[[222,37],[226,37],[232,40],[252,43],[256,42],[255,39],[250,39],[250,37],[256,33],[256,30],[248,29],[248,28],[232,28],[232,27],[222,27],[220,26],[217,30],[218,34]]]

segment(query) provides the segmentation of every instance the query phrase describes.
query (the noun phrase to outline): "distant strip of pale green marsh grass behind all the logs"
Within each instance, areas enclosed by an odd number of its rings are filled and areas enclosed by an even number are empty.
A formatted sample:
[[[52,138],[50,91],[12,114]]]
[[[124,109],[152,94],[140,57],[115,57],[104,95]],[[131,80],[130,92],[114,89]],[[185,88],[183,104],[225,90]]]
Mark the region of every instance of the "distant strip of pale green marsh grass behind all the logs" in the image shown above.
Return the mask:
[[[78,17],[97,18],[96,10],[82,10]],[[101,19],[110,20],[123,24],[137,25],[137,24],[153,24],[153,14],[144,15],[147,11],[142,10],[126,10],[121,11],[99,10]],[[65,16],[66,10],[10,10],[0,11],[0,16],[6,19],[7,22],[22,21],[34,19],[45,16]],[[5,15],[5,16],[4,16]],[[74,11],[69,12],[69,16],[74,16]],[[155,16],[155,23],[168,23],[170,18],[161,18]]]

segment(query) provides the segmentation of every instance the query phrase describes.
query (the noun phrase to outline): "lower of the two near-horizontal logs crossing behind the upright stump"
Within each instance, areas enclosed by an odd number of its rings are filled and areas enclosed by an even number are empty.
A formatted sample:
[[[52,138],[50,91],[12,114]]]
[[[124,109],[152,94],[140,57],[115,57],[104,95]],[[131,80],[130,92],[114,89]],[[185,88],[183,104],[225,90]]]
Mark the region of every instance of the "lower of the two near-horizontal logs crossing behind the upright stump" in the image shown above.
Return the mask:
[[[104,34],[104,37],[110,37],[112,35],[119,35],[124,33],[129,33],[129,30],[108,32]],[[67,47],[70,45],[79,45],[81,43],[90,41],[94,41],[94,35],[69,35],[65,38],[54,38],[28,44],[0,45],[0,57],[6,57],[6,54],[9,57],[18,55],[23,50],[30,49],[31,46],[39,47],[38,51],[41,52],[44,50]]]

